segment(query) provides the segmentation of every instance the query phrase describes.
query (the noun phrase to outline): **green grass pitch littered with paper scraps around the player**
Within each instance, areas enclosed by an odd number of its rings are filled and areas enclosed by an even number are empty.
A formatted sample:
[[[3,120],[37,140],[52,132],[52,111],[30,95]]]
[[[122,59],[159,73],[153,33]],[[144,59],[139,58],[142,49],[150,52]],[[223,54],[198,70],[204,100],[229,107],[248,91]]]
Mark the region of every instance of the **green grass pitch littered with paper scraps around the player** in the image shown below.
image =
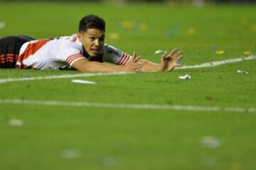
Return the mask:
[[[106,42],[159,62],[178,47],[183,64],[256,54],[256,6],[0,3],[0,37],[76,33],[82,16],[107,22]],[[223,50],[223,55],[216,55]],[[1,99],[255,108],[256,60],[170,73],[0,84]],[[238,74],[238,69],[249,74]],[[0,69],[0,79],[78,74]],[[178,76],[190,74],[192,79]],[[0,169],[256,169],[256,113],[0,104]],[[22,126],[10,120],[23,121]]]

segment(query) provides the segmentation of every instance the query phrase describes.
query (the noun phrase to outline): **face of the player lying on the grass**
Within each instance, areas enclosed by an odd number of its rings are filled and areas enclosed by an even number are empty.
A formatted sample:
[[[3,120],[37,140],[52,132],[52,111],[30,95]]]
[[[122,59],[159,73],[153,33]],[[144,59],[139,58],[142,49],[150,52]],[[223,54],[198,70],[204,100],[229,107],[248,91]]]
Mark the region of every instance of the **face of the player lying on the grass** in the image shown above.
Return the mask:
[[[105,40],[105,31],[98,29],[87,29],[86,32],[78,33],[82,46],[90,57],[102,54],[102,47]]]

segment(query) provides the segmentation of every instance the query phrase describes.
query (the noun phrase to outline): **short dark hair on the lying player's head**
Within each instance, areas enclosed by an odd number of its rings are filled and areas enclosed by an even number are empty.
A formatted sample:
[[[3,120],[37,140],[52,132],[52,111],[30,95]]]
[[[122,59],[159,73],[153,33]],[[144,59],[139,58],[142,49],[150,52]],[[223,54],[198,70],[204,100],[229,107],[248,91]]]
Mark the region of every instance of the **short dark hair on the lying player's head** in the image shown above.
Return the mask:
[[[105,31],[105,21],[96,15],[87,15],[80,20],[79,32],[86,32],[87,29],[98,29]]]

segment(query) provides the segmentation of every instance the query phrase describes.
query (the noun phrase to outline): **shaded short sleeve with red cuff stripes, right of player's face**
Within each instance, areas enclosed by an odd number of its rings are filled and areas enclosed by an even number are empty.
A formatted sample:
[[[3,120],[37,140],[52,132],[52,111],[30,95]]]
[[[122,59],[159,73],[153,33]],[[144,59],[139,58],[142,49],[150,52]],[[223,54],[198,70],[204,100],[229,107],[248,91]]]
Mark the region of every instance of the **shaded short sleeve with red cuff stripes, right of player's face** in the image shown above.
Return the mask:
[[[117,65],[126,64],[131,56],[127,55],[127,53],[118,50],[116,47],[112,47],[111,45],[104,45],[104,54],[103,54],[103,62],[110,62]]]

